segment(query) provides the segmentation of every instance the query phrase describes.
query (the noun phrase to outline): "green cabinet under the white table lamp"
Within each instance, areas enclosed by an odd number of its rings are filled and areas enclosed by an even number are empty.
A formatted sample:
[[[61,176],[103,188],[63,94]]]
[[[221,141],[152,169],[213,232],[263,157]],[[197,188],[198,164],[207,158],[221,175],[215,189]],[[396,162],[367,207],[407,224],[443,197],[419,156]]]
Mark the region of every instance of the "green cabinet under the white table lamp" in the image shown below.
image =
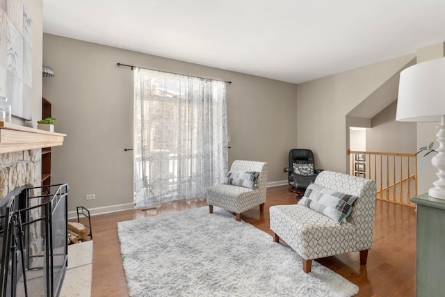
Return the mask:
[[[445,296],[445,200],[428,193],[417,204],[416,296]]]

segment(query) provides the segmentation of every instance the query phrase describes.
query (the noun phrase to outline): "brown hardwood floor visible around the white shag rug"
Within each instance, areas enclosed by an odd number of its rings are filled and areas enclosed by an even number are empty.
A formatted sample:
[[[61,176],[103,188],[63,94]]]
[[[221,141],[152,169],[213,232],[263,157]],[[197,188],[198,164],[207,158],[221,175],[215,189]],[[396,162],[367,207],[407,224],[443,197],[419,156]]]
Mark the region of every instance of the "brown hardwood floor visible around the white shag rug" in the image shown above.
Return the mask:
[[[287,186],[267,189],[264,213],[259,208],[243,213],[243,220],[269,234],[269,207],[295,204]],[[128,296],[120,257],[117,223],[134,218],[157,216],[170,211],[207,205],[194,199],[163,204],[146,211],[120,211],[93,216],[92,296]],[[234,218],[235,219],[235,218]],[[270,236],[270,240],[273,238]],[[376,202],[373,248],[368,263],[359,264],[359,253],[316,260],[359,286],[357,296],[416,296],[416,212],[414,208],[389,202]]]

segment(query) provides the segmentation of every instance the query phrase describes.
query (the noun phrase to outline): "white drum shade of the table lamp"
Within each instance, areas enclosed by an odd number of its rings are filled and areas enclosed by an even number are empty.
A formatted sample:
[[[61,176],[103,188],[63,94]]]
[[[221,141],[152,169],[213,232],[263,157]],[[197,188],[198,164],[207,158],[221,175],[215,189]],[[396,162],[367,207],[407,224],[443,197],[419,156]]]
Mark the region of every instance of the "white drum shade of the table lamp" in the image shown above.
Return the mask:
[[[445,115],[445,58],[408,67],[401,72],[396,120],[439,122]]]

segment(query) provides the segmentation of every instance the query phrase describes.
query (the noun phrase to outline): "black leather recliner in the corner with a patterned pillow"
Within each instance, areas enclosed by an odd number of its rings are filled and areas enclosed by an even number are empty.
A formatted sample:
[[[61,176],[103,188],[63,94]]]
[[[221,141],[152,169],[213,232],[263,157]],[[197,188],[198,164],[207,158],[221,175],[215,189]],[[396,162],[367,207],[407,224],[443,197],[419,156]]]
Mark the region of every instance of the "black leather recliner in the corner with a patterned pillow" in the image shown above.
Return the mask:
[[[294,166],[294,164],[298,165]],[[302,197],[307,186],[315,181],[318,173],[323,171],[323,169],[314,168],[315,161],[312,150],[293,149],[289,151],[289,167],[284,168],[284,172],[288,172],[288,183],[291,186],[289,191],[295,192],[297,198]]]

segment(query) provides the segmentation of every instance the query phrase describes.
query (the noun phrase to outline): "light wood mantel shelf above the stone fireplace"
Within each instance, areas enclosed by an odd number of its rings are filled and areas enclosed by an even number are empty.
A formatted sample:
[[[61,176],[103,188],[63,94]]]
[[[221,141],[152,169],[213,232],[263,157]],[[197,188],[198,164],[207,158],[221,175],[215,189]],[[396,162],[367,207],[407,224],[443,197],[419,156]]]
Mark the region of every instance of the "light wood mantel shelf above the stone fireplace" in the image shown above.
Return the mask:
[[[66,134],[0,122],[0,154],[55,147],[63,144]]]

